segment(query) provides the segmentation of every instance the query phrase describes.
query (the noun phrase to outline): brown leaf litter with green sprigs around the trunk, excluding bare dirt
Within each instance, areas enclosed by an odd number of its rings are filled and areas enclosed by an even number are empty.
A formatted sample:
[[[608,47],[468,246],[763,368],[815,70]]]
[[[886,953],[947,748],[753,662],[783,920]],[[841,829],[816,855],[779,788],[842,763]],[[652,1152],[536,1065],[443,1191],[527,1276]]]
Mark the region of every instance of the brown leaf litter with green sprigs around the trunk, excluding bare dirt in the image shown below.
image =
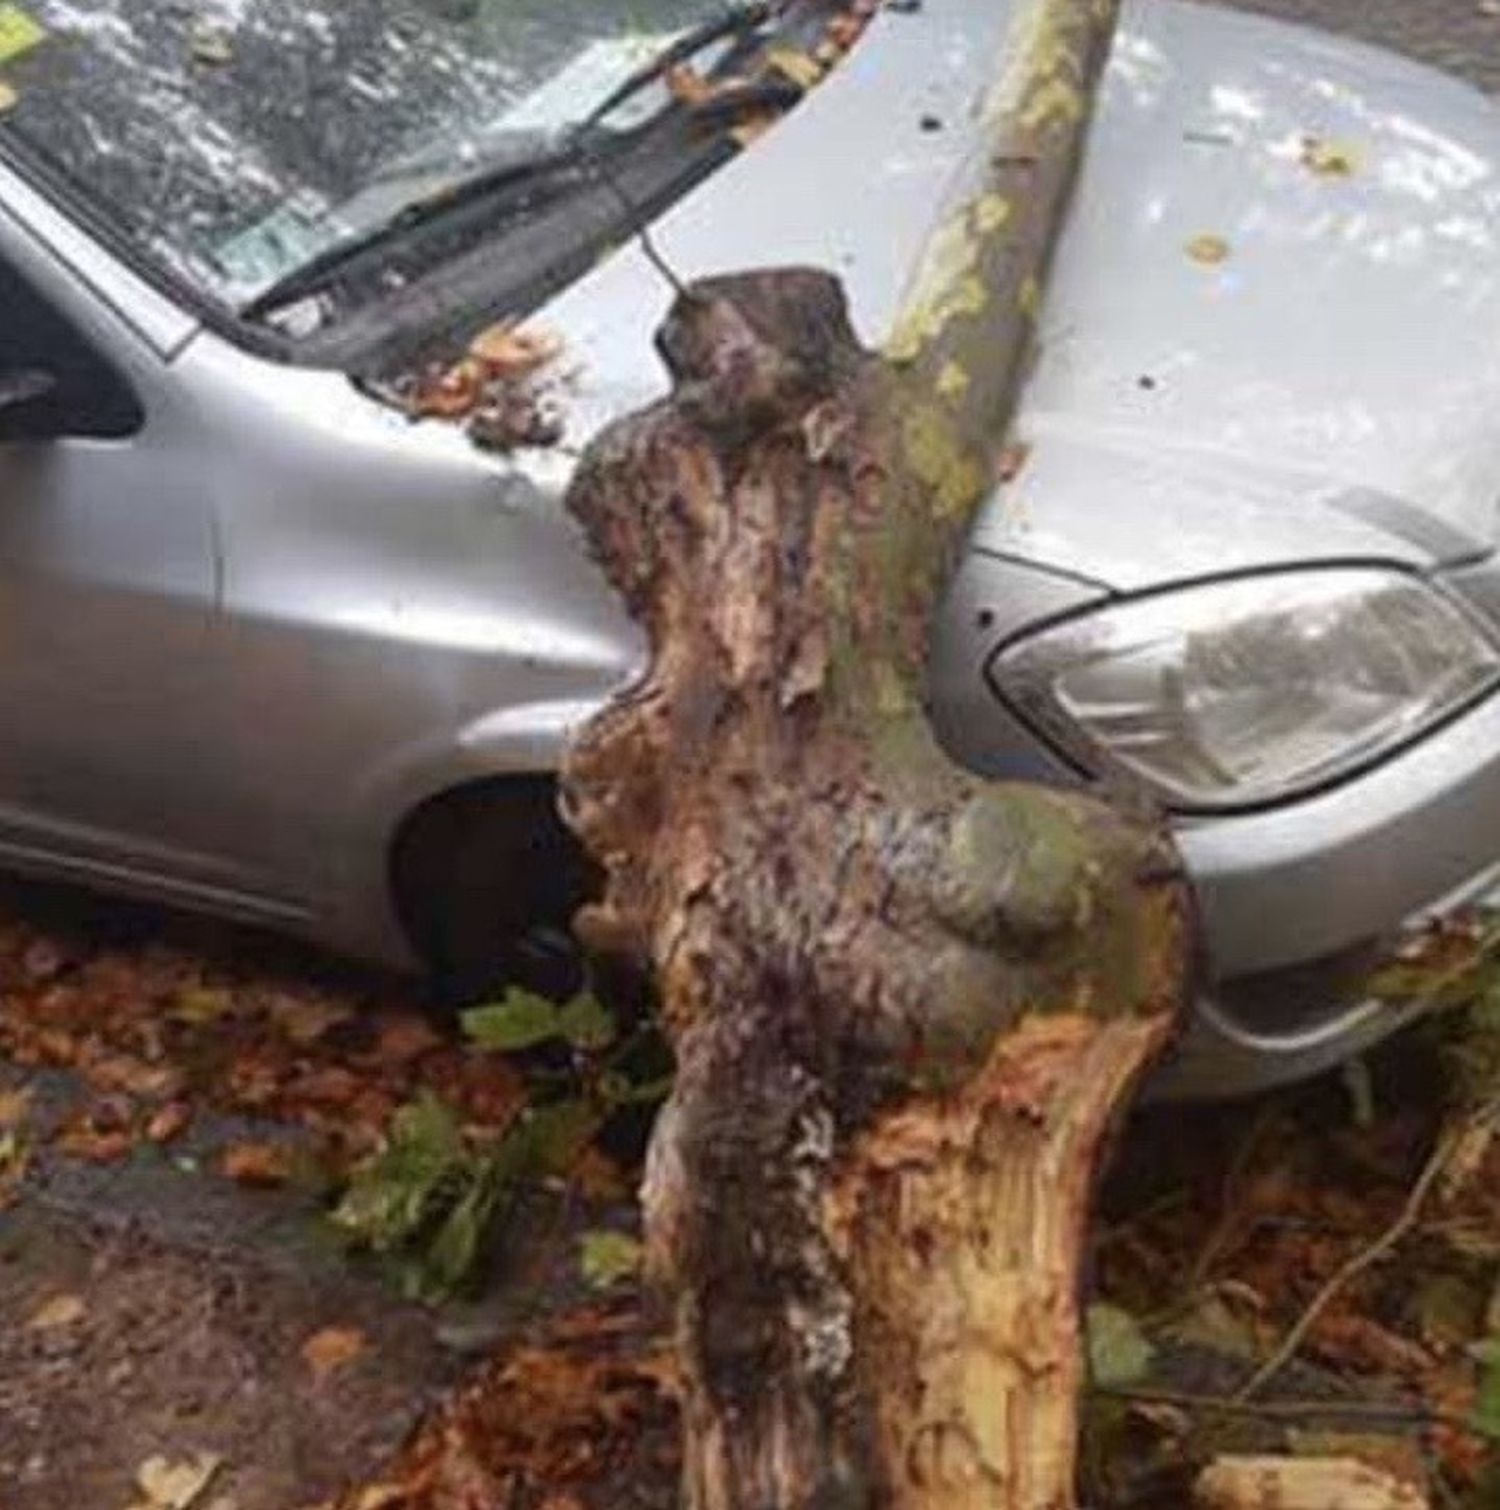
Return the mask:
[[[1328,1077],[1134,1119],[1095,1232],[1092,1502],[1160,1510],[1224,1451],[1331,1450],[1397,1462],[1450,1505],[1500,1502],[1500,1140],[1474,1116],[1500,1086],[1500,998],[1474,957],[1471,935],[1435,932],[1381,978],[1391,1001],[1432,997],[1446,1010],[1372,1059],[1369,1105]],[[530,1129],[533,1170],[588,1167],[601,1114],[640,1083],[625,1077],[622,1092],[612,1078],[628,1034],[585,998],[511,994],[470,1013],[458,1037],[393,995],[6,920],[0,995],[12,1062],[68,1066],[94,1087],[86,1117],[54,1142],[82,1139],[79,1157],[91,1157],[121,1134],[150,1139],[183,1108],[272,1114],[319,1137],[349,1228],[393,1250],[414,1232],[449,1258],[474,1250],[486,1206],[511,1199],[491,1182],[497,1149]],[[532,1060],[566,1093],[538,1102]],[[8,1095],[30,1129],[33,1108]],[[566,1312],[482,1364],[338,1510],[438,1510],[476,1484],[517,1507],[557,1495],[594,1507],[618,1502],[621,1475],[642,1486],[642,1504],[653,1484],[668,1495],[675,1391],[639,1258],[628,1232],[586,1234],[571,1262],[580,1282],[609,1287],[609,1305]],[[358,1376],[370,1356],[361,1332],[337,1317],[304,1330],[304,1377],[337,1388]],[[1284,1365],[1246,1398],[1289,1338]]]

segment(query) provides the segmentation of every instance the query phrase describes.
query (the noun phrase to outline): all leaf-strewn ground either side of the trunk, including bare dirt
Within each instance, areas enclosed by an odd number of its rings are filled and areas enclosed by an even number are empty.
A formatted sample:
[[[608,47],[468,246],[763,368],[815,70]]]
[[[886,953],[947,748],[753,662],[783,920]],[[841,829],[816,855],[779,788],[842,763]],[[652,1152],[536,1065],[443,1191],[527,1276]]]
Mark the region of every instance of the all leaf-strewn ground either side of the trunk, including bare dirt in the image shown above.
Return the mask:
[[[1211,1504],[1267,1456],[1500,1504],[1488,960],[1414,941],[1381,989],[1441,1012],[1364,1072],[1133,1119],[1095,1223],[1092,1507]],[[218,1460],[204,1507],[666,1510],[671,1350],[597,1142],[663,1075],[589,997],[443,1021],[255,936],[0,914],[5,1510],[156,1510],[153,1459]],[[488,1296],[408,1299],[458,1261]]]

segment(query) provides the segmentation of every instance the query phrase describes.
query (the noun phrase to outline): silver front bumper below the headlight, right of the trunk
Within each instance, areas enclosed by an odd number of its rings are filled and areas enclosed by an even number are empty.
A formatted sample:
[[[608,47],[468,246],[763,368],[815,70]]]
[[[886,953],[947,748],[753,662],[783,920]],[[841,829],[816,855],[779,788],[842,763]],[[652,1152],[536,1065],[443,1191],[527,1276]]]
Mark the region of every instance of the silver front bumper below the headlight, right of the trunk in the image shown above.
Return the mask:
[[[1151,1092],[1240,1095],[1326,1069],[1427,1010],[1372,995],[1372,977],[1500,894],[1500,696],[1320,796],[1184,820],[1177,843],[1215,985]]]

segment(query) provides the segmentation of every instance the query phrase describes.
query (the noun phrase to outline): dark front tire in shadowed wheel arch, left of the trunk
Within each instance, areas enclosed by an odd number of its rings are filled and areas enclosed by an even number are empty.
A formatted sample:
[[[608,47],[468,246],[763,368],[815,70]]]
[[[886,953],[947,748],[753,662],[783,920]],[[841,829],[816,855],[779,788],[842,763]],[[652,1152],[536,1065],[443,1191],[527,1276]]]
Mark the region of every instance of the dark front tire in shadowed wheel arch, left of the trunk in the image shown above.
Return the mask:
[[[437,799],[408,823],[394,871],[402,917],[444,1006],[508,985],[559,1001],[583,988],[569,921],[592,867],[557,817],[550,779]]]

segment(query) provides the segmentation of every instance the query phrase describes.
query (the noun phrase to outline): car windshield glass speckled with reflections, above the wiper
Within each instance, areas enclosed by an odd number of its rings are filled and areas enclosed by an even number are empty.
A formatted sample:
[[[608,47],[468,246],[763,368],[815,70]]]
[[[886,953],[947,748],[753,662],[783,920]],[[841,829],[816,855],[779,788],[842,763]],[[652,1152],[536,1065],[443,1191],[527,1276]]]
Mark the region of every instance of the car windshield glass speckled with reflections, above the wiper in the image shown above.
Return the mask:
[[[500,143],[545,139],[705,9],[0,0],[0,134],[150,257],[240,305]]]

